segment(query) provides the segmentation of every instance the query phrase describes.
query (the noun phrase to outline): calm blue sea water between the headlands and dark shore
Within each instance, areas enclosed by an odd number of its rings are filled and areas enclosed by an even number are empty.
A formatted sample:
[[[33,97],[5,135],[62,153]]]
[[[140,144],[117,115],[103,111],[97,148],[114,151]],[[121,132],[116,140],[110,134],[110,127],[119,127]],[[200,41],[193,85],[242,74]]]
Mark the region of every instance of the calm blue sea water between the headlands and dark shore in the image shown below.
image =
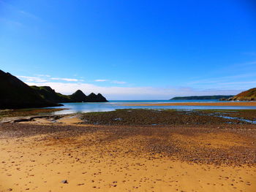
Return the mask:
[[[59,112],[53,112],[54,115],[69,114],[75,112],[107,112],[117,109],[177,109],[177,110],[245,110],[255,109],[256,107],[215,107],[215,106],[122,106],[122,104],[157,104],[157,103],[178,103],[178,102],[217,102],[218,100],[112,100],[105,103],[63,103],[61,107],[48,107],[48,108],[62,108]],[[219,102],[219,101],[218,101]]]

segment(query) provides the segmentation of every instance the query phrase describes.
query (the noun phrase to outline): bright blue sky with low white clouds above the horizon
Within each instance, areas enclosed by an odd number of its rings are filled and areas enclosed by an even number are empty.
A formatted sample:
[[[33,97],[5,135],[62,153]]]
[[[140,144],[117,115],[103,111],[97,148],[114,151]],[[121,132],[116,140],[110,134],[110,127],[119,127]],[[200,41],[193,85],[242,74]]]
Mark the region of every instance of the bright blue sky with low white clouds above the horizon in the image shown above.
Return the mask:
[[[256,4],[0,0],[0,69],[108,99],[236,94],[256,87]]]

